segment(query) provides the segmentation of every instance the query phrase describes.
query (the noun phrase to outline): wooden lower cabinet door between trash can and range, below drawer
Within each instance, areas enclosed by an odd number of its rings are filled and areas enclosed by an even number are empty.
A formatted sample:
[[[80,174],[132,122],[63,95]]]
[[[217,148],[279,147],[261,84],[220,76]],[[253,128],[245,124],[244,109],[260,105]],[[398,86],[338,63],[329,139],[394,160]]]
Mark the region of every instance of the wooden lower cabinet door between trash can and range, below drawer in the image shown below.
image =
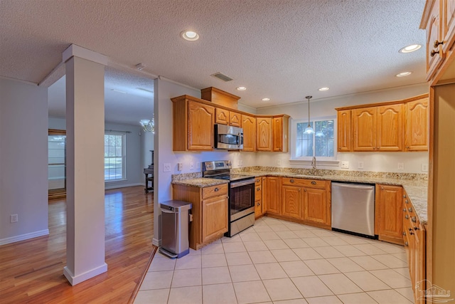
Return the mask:
[[[202,243],[228,231],[228,197],[215,196],[202,201]]]

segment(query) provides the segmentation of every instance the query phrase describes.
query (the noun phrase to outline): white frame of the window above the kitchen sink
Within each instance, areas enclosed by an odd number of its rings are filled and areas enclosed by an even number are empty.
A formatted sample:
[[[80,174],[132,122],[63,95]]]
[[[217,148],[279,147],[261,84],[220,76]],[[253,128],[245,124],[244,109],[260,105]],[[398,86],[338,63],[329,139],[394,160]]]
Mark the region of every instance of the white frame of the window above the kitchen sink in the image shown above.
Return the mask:
[[[325,120],[333,120],[333,157],[322,157],[322,156],[316,156],[315,155],[315,147],[316,145],[313,145],[313,155],[312,156],[304,156],[304,157],[296,157],[296,140],[297,140],[297,124],[299,123],[304,123],[308,124],[308,119],[296,119],[296,120],[291,120],[291,162],[311,162],[311,159],[313,157],[316,157],[317,160],[319,161],[328,161],[328,162],[333,162],[336,161],[336,152],[337,152],[337,140],[338,140],[338,133],[337,133],[337,120],[336,120],[336,115],[334,116],[324,116],[324,117],[314,117],[313,119],[310,119],[310,122],[313,124],[313,127],[316,126],[316,122],[320,121],[325,121]],[[315,140],[315,134],[313,135],[313,139]],[[314,141],[316,143],[316,141]],[[337,161],[338,163],[338,161]]]

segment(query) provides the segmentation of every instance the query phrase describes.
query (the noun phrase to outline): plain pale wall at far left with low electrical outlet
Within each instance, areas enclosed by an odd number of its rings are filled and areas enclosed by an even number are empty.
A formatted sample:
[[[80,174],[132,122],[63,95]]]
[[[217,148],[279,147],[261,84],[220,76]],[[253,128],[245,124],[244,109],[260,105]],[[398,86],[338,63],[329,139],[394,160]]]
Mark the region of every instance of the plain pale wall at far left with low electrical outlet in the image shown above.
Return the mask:
[[[0,168],[0,245],[48,234],[47,88],[0,78]]]

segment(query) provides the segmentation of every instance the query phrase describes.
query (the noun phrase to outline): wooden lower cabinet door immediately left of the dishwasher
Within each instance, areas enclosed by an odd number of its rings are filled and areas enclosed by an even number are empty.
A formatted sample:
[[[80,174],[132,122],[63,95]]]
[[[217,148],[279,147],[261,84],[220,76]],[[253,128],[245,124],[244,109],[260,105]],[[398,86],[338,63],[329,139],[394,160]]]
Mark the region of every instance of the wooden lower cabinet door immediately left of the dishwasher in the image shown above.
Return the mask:
[[[326,189],[304,188],[304,219],[328,223]]]

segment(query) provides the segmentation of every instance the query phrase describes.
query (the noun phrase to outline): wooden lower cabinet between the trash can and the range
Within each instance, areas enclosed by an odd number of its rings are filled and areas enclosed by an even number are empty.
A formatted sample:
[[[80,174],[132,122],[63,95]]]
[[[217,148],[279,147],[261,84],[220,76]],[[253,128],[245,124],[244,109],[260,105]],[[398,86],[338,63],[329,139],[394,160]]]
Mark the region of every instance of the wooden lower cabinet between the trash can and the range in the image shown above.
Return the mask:
[[[220,239],[228,231],[228,184],[205,188],[173,184],[172,197],[193,204],[189,241],[194,250]]]

